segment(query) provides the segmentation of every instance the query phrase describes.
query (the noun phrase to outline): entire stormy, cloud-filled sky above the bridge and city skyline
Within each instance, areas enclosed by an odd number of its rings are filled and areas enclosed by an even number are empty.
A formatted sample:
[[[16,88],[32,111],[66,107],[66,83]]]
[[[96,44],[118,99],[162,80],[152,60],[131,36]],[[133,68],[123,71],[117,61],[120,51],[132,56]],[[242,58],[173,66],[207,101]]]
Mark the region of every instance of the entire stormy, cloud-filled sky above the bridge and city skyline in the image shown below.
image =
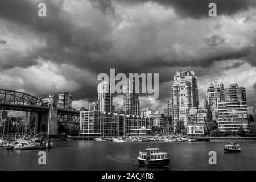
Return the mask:
[[[38,3],[46,3],[46,17]],[[217,17],[208,5],[217,5]],[[0,1],[0,88],[34,96],[69,92],[73,106],[97,100],[97,75],[159,73],[159,99],[141,107],[167,108],[173,74],[193,70],[200,101],[211,81],[246,87],[256,103],[255,0]],[[113,98],[122,109],[122,95]]]

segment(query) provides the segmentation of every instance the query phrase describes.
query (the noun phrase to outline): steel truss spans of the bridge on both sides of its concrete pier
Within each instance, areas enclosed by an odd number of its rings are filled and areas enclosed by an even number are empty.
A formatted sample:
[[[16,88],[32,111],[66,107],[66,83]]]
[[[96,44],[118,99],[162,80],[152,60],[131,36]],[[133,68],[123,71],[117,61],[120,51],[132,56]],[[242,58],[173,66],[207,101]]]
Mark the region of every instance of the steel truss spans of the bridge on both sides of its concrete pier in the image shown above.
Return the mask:
[[[48,113],[51,109],[40,98],[30,94],[0,89],[0,109]],[[80,111],[57,109],[58,123],[80,123]]]

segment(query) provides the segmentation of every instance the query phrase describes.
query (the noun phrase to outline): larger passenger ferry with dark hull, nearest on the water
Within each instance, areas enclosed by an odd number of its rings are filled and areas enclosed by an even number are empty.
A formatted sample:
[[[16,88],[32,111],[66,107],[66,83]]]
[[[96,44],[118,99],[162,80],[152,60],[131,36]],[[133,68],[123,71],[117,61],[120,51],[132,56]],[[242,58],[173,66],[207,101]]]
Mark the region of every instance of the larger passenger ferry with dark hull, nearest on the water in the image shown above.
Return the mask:
[[[138,163],[142,166],[169,166],[170,158],[166,152],[159,152],[159,148],[147,148],[146,152],[139,152]]]

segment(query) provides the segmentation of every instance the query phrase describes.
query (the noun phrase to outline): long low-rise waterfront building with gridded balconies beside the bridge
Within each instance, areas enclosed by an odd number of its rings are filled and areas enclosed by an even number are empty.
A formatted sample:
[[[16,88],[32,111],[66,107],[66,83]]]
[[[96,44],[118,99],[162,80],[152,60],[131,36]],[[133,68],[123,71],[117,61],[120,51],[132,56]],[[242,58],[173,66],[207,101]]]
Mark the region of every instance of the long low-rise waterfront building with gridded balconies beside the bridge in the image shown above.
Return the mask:
[[[151,118],[139,115],[82,111],[80,113],[80,135],[127,136],[134,130],[142,129],[142,127],[150,130],[152,123]]]

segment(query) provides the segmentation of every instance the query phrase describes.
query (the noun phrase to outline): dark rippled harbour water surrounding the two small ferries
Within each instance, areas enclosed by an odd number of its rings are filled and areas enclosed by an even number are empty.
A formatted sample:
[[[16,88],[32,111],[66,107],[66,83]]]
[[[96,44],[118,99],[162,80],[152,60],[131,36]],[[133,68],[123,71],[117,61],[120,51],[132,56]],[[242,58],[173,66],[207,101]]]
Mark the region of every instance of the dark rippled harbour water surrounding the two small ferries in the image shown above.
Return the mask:
[[[159,170],[137,164],[138,151],[149,145],[168,152],[170,165],[160,170],[255,170],[256,142],[239,142],[242,151],[224,154],[224,142],[54,141],[46,151],[46,165],[38,164],[38,151],[7,151],[0,148],[0,170]],[[209,165],[209,151],[217,152],[217,165]]]

